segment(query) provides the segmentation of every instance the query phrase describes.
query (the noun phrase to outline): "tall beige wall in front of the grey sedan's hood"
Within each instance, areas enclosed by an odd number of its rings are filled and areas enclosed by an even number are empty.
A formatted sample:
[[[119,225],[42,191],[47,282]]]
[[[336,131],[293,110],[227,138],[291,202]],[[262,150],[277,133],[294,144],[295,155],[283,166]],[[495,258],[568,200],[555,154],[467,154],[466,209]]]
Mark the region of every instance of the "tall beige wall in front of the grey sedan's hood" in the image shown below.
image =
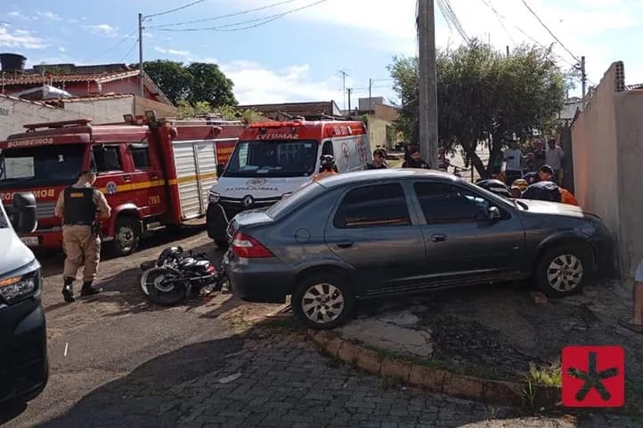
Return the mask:
[[[572,126],[576,198],[598,214],[617,245],[616,266],[631,279],[643,256],[643,93],[624,91],[615,62]]]

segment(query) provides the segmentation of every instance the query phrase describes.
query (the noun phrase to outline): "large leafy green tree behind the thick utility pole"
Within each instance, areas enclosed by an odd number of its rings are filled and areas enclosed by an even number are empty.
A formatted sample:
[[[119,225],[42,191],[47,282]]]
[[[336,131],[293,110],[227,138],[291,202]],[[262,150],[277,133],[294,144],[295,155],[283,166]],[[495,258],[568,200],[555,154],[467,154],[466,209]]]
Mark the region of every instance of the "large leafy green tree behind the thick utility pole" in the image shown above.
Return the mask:
[[[402,103],[398,128],[417,143],[418,61],[394,58],[389,71]],[[460,145],[481,176],[488,175],[504,139],[549,130],[565,101],[565,77],[551,52],[533,46],[520,46],[509,57],[477,41],[438,52],[436,79],[440,144],[450,151]],[[490,136],[492,156],[485,167],[476,146]]]

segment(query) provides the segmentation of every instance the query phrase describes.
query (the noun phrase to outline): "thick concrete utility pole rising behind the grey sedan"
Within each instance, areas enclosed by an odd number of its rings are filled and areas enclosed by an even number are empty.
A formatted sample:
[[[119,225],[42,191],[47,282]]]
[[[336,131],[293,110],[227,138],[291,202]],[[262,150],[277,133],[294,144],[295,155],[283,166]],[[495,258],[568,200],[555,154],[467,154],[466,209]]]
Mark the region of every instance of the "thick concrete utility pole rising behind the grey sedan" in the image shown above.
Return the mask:
[[[419,149],[437,168],[437,93],[435,87],[435,11],[433,0],[418,2]]]

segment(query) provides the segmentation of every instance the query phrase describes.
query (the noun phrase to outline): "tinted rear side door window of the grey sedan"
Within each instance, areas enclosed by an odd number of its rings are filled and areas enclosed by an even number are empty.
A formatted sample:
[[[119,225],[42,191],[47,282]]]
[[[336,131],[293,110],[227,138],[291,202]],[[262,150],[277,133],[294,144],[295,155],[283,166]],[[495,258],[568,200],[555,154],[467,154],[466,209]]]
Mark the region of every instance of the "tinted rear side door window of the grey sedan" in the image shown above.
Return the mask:
[[[350,190],[342,199],[333,224],[338,229],[411,224],[402,185],[377,184]]]

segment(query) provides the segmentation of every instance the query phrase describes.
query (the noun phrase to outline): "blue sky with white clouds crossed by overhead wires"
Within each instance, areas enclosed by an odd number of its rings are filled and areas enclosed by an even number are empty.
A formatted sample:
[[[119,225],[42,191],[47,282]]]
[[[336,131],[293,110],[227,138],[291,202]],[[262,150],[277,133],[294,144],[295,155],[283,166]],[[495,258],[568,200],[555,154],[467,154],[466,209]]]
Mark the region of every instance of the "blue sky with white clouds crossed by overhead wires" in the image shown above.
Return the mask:
[[[28,57],[28,65],[134,62],[138,58],[137,13],[151,15],[192,1],[3,0],[0,51],[22,53]],[[572,54],[575,58],[585,55],[590,82],[597,84],[609,64],[620,60],[625,63],[627,83],[643,83],[639,46],[643,40],[643,0],[526,1],[571,52],[554,44],[561,68],[572,68]],[[394,55],[416,52],[415,0],[326,0],[240,31],[162,30],[238,28],[231,24],[315,3],[290,0],[235,17],[158,27],[275,3],[279,0],[205,0],[152,17],[145,22],[145,59],[216,62],[234,81],[235,94],[242,103],[333,99],[342,107],[340,69],[348,73],[346,86],[354,88],[354,103],[368,95],[369,78],[378,79],[373,84],[374,96],[395,99],[390,80],[384,79],[389,78],[387,65]],[[490,40],[503,52],[507,44],[554,43],[522,0],[451,3],[467,36]],[[437,6],[435,15],[438,47],[461,44],[462,37],[447,25]],[[573,93],[578,91],[580,85]]]

